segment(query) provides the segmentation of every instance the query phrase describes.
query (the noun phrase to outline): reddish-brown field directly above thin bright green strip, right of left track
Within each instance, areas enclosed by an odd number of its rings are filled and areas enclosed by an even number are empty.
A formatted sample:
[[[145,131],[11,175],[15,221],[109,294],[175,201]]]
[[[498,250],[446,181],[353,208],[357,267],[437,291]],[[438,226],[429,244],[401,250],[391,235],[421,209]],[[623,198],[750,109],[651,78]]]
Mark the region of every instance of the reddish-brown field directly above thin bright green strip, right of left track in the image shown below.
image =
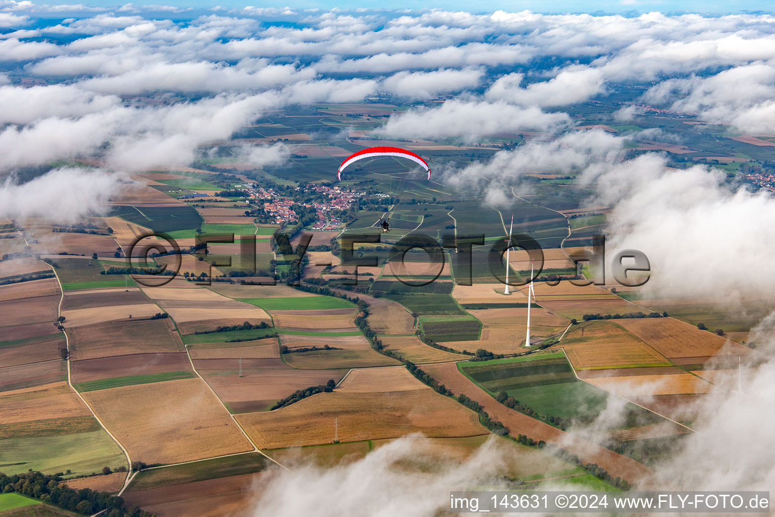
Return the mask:
[[[115,357],[71,361],[72,381],[88,382],[129,375],[191,370],[186,353],[134,353]]]

